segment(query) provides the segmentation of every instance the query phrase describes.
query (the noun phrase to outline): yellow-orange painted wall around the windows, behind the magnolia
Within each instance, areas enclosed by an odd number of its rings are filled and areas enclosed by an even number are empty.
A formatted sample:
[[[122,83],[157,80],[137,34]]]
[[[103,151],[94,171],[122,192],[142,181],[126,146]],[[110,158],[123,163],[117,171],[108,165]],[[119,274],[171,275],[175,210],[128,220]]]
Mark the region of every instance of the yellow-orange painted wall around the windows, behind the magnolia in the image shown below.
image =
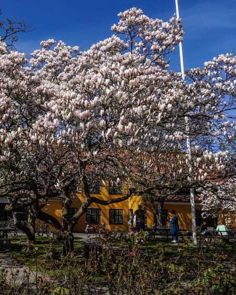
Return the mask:
[[[109,185],[108,182],[106,186],[101,186],[101,193],[100,194],[91,194],[93,197],[97,197],[102,200],[110,200],[113,198],[119,198],[121,195],[109,195]],[[84,201],[84,194],[76,193],[72,194],[72,204],[71,207],[79,208],[81,203]],[[99,208],[101,209],[101,224],[102,222],[106,222],[107,228],[119,228],[121,231],[130,230],[128,227],[128,218],[130,216],[130,209],[133,209],[133,212],[138,209],[138,205],[142,204],[142,196],[131,196],[128,200],[125,200],[120,203],[113,203],[108,206],[99,205],[96,203],[91,204],[89,208]],[[47,206],[44,207],[44,211],[48,214],[52,214],[55,216],[59,222],[61,222],[62,215],[61,215],[61,201],[49,201]],[[123,224],[122,225],[109,225],[109,209],[122,209],[123,210]],[[154,214],[151,209],[151,206],[147,203],[144,204],[144,209],[147,213],[146,224],[148,227],[154,225]],[[174,209],[177,213],[178,220],[179,220],[179,227],[180,229],[189,229],[192,228],[191,222],[191,207],[190,204],[187,203],[167,203],[164,204],[163,209],[167,210],[167,220],[169,221],[172,218],[171,211]],[[200,205],[196,205],[197,210],[201,210]],[[224,216],[220,217],[223,222],[225,221]],[[168,225],[169,226],[169,225]],[[235,224],[233,224],[235,226]],[[75,232],[84,232],[86,227],[86,213],[78,220],[78,224],[75,226]]]

